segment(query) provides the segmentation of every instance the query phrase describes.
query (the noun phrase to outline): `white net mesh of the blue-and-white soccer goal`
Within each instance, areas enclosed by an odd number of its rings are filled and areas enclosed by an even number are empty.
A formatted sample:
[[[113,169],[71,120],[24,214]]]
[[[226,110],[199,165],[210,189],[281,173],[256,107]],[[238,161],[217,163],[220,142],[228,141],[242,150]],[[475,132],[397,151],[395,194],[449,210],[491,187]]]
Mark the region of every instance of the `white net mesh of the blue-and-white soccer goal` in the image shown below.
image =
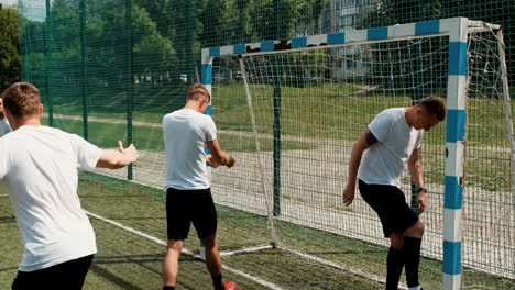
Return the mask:
[[[280,221],[274,225],[278,243],[331,263],[344,265],[347,257],[337,255],[341,249],[328,233],[387,245],[379,219],[359,193],[351,208],[342,204],[350,150],[382,110],[409,107],[431,94],[447,96],[448,45],[448,37],[428,37],[245,55],[266,190],[252,137],[244,74],[235,56],[216,57],[213,119],[221,142],[231,143],[244,165],[231,175],[213,171],[218,202],[266,215],[269,200]],[[497,48],[491,32],[470,37],[463,264],[513,278],[515,203],[506,131],[511,120]],[[424,134],[421,155],[429,189],[428,209],[421,215],[423,253],[440,259],[445,122]],[[402,182],[409,200],[407,174]],[[303,234],[291,230],[289,223],[320,231]],[[365,254],[366,246],[347,250]]]

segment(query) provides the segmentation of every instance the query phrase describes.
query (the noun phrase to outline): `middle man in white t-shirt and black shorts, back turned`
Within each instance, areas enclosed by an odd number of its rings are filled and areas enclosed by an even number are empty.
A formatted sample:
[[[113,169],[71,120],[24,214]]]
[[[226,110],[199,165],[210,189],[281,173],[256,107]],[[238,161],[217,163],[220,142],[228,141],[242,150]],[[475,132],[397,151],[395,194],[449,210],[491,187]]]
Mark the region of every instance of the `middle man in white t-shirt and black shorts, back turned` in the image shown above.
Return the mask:
[[[206,266],[215,290],[233,290],[233,282],[223,282],[217,242],[217,211],[212,201],[206,163],[212,167],[232,167],[234,158],[220,148],[217,127],[204,114],[209,92],[191,85],[182,110],[163,118],[166,155],[166,221],[168,245],[163,260],[163,290],[175,290],[178,258],[190,223],[206,246]],[[206,155],[206,145],[211,152]]]

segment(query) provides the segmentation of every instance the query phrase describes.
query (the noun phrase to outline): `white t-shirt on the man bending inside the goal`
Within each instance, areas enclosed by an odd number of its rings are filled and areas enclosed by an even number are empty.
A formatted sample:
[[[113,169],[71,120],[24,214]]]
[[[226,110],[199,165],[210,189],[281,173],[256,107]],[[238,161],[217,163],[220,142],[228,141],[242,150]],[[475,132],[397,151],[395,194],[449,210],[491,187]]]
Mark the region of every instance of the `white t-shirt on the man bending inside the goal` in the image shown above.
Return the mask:
[[[401,187],[399,178],[414,149],[420,148],[423,130],[406,122],[404,108],[386,109],[369,124],[377,142],[361,159],[358,178],[368,185]]]

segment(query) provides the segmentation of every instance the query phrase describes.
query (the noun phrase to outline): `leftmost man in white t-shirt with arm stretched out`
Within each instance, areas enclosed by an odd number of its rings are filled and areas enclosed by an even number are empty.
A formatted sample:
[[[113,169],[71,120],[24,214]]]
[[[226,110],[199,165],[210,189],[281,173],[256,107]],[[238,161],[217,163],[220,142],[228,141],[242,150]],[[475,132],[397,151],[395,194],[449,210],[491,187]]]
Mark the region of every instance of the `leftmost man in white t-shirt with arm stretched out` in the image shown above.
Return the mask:
[[[121,168],[138,150],[121,142],[118,150],[100,149],[43,126],[40,92],[31,83],[12,85],[2,99],[13,132],[0,138],[0,181],[24,246],[12,289],[81,289],[97,246],[77,196],[78,170]]]

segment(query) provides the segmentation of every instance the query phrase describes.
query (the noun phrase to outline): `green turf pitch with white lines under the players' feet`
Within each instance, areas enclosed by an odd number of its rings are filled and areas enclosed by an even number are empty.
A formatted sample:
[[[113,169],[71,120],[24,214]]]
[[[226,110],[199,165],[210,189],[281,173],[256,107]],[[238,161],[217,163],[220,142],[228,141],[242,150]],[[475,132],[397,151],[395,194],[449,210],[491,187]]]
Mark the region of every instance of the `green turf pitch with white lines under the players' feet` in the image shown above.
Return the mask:
[[[0,193],[6,191],[0,189]],[[216,192],[213,192],[216,194]],[[81,174],[79,196],[85,210],[125,226],[166,239],[164,191],[95,174]],[[222,250],[238,249],[270,242],[265,216],[218,205],[219,236]],[[21,258],[21,238],[6,197],[0,198],[0,289],[9,289]],[[146,238],[90,219],[97,234],[99,252],[85,289],[158,289],[164,247]],[[275,221],[283,245],[341,265],[383,277],[387,248],[336,234]],[[191,231],[185,247],[198,248]],[[284,289],[381,289],[382,286],[344,271],[298,258],[278,250],[224,257],[223,263]],[[441,263],[423,258],[421,285],[425,289],[441,288]],[[265,289],[254,281],[226,272],[241,289]],[[209,289],[205,266],[183,256],[179,287]],[[515,281],[464,269],[463,287],[473,289],[514,289]]]

